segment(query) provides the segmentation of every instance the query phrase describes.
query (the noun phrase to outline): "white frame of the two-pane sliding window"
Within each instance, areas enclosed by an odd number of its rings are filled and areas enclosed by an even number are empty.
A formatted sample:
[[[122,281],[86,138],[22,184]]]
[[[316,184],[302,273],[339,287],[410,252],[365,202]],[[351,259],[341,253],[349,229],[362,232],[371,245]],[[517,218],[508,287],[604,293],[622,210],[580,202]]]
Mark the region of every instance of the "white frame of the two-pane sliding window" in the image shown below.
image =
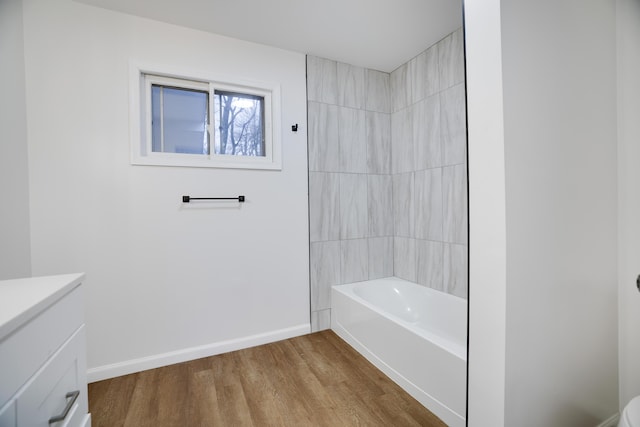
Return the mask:
[[[160,70],[165,71],[160,71]],[[241,79],[219,78],[195,72],[167,72],[166,68],[131,67],[130,123],[131,163],[134,165],[181,166],[235,169],[282,169],[280,86]],[[210,153],[186,154],[152,151],[151,145],[151,85],[173,86],[209,92]],[[264,97],[264,156],[215,154],[213,126],[216,90]]]

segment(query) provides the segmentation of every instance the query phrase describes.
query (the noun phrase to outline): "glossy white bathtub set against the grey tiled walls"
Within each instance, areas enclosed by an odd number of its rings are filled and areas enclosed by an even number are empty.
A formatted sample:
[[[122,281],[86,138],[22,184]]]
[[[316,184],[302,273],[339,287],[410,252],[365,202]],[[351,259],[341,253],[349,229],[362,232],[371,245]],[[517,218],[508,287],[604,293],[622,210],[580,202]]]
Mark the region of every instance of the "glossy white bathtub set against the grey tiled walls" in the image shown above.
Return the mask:
[[[331,329],[447,425],[465,425],[466,300],[396,277],[334,286]]]

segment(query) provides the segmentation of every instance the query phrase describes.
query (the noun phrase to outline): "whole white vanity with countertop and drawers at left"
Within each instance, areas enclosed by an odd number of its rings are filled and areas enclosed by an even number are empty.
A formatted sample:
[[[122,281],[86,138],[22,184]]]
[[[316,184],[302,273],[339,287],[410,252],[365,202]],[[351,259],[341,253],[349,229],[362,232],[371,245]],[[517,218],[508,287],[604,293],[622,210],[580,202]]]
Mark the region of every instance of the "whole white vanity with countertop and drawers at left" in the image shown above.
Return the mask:
[[[91,425],[83,279],[0,281],[0,427]]]

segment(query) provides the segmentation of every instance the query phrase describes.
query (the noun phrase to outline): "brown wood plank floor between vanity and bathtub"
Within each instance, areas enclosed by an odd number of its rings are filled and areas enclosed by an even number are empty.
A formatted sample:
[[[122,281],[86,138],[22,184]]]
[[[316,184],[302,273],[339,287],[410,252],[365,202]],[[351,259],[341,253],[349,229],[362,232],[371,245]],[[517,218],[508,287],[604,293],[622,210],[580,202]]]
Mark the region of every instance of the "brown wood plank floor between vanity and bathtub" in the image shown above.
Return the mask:
[[[94,427],[444,426],[331,331],[89,384]]]

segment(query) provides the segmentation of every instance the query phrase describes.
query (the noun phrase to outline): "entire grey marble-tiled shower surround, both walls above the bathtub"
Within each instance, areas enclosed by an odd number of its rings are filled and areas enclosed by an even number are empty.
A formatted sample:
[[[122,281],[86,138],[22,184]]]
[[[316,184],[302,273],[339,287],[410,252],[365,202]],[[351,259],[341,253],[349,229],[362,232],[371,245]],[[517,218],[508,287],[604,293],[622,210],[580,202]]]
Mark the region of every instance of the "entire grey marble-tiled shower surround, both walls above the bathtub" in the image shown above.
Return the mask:
[[[396,276],[467,297],[462,30],[391,74],[307,57],[311,325],[331,286]]]

